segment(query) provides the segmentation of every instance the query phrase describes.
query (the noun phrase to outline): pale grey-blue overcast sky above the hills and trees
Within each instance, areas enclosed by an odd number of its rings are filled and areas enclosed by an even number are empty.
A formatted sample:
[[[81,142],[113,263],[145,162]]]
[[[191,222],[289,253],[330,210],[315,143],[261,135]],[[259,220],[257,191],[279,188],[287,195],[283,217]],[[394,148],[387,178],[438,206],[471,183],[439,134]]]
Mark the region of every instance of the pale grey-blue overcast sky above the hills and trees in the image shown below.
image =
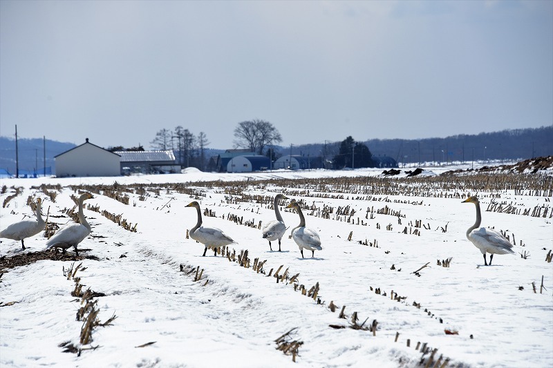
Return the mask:
[[[0,135],[232,148],[553,124],[553,1],[0,1]]]

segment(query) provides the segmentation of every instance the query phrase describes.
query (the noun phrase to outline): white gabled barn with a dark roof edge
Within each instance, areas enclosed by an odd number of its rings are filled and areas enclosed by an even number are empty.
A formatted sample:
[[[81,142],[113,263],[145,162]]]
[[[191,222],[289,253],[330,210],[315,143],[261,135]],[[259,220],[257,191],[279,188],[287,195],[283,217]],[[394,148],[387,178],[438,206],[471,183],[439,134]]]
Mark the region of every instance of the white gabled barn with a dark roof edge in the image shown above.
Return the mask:
[[[54,156],[55,175],[118,176],[121,175],[120,155],[88,142]]]

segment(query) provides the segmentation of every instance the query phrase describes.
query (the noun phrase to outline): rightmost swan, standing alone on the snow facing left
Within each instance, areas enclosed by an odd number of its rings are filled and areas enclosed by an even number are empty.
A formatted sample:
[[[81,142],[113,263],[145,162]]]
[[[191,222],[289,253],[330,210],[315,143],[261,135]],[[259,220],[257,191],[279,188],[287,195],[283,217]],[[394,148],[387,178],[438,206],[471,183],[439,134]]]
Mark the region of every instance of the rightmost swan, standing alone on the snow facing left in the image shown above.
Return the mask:
[[[505,239],[501,233],[486,227],[477,229],[480,226],[480,222],[482,222],[482,214],[480,213],[480,202],[478,202],[476,195],[468,197],[461,203],[474,203],[476,205],[476,222],[467,230],[467,239],[476,248],[480,249],[482,255],[484,255],[484,264],[486,266],[488,266],[486,253],[489,253],[489,265],[491,265],[491,259],[494,258],[494,254],[514,254],[512,249],[513,244]]]

